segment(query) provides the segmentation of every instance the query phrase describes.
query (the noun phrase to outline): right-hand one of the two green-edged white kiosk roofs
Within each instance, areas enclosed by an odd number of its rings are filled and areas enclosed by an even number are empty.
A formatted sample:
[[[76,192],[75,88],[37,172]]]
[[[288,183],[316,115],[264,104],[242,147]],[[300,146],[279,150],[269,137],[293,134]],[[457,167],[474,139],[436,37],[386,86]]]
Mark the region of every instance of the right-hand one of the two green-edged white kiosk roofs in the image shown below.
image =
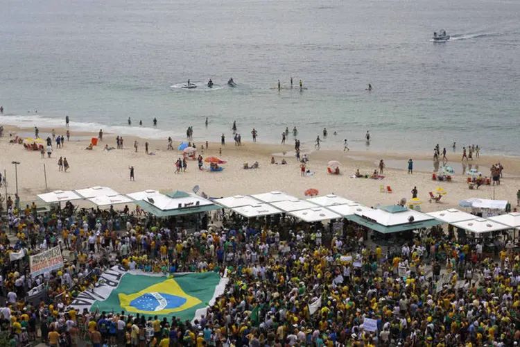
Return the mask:
[[[427,228],[428,226],[440,224],[440,221],[428,216],[428,214],[401,208],[401,206],[386,206],[377,210],[372,208],[361,211],[356,210],[354,214],[345,217],[349,221],[354,221],[383,234]],[[410,217],[413,217],[411,222],[409,221]]]

